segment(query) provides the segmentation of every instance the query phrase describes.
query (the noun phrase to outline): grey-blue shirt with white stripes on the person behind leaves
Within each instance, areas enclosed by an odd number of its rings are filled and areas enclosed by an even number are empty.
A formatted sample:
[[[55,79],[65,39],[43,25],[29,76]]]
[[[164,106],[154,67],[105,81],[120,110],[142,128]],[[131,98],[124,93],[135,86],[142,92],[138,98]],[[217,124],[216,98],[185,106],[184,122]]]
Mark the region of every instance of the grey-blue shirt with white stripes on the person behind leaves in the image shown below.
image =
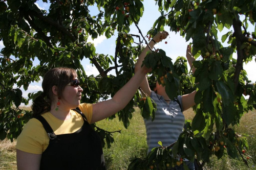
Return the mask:
[[[147,135],[147,153],[159,147],[158,141],[162,142],[166,147],[178,140],[179,135],[183,131],[185,117],[181,112],[180,106],[176,101],[170,101],[168,104],[164,101],[163,96],[151,91],[151,98],[157,104],[155,119],[144,119]],[[181,95],[178,96],[180,104]]]

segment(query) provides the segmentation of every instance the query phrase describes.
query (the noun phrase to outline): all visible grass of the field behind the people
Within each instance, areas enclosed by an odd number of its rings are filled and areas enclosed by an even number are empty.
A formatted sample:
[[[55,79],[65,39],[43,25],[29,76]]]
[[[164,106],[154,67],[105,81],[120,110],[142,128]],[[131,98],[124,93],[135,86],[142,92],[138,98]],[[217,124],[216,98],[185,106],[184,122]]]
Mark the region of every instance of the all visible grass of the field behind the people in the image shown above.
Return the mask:
[[[144,121],[140,115],[140,110],[135,108],[135,113],[130,122],[128,129],[123,127],[122,122],[118,118],[105,121],[102,120],[97,123],[97,126],[107,131],[121,130],[121,133],[114,133],[115,142],[110,149],[103,148],[105,155],[106,166],[108,169],[127,169],[131,159],[134,157],[146,156],[146,132]],[[189,109],[184,112],[186,119],[193,119],[194,112]],[[247,170],[256,169],[256,111],[245,113],[240,120],[240,126],[234,127],[239,134],[247,134],[247,141],[249,150],[246,152],[252,156],[248,168],[243,161],[230,159],[228,156],[223,156],[218,160],[215,156],[211,157],[211,161],[206,163],[206,170]],[[0,169],[17,169],[16,167],[16,153],[14,141],[9,140],[0,141]]]

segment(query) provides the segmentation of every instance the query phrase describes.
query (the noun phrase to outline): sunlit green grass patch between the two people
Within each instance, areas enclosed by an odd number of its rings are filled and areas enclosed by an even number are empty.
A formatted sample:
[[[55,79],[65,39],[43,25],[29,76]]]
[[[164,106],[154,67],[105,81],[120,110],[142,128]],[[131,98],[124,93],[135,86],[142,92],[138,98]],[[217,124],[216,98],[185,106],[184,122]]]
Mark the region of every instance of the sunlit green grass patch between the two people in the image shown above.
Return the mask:
[[[121,129],[121,133],[114,134],[115,142],[111,145],[111,149],[103,148],[107,169],[127,169],[132,158],[146,156],[146,129],[140,110],[135,109],[136,113],[128,129],[124,128],[118,118],[97,123],[98,127],[106,131]]]

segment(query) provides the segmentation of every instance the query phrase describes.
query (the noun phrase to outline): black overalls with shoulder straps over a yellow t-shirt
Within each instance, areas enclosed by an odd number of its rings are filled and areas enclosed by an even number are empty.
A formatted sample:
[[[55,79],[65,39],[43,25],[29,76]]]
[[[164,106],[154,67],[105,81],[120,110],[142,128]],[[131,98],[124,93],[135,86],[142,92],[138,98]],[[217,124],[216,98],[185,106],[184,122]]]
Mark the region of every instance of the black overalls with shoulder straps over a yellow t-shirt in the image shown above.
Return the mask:
[[[42,153],[40,169],[106,169],[99,135],[93,130],[84,114],[83,126],[75,133],[55,135],[46,119],[35,117],[44,126],[50,138]]]

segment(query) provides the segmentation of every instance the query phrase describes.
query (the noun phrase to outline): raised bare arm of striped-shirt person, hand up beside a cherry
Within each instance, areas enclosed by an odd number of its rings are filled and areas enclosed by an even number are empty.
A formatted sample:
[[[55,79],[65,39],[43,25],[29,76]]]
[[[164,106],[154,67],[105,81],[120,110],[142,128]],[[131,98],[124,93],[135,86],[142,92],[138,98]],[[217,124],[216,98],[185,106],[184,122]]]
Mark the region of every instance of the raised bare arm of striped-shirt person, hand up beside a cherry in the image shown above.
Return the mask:
[[[151,40],[148,45],[153,48],[153,46],[155,45],[155,42],[158,43],[160,41],[162,41],[163,39],[165,39],[169,34],[166,32],[166,31],[163,31],[163,32],[159,32],[157,33],[157,35],[155,35],[153,37],[153,40]],[[155,42],[154,42],[155,41]],[[148,46],[146,46],[144,48],[144,50],[141,52],[136,64],[135,64],[135,72],[137,72],[140,68],[141,68],[141,65],[142,65],[142,62],[144,60],[144,58],[146,57],[146,53],[150,51],[150,48]],[[146,75],[144,76],[141,84],[140,84],[140,88],[143,90],[144,93],[146,93],[147,95],[150,95],[151,93],[151,89],[150,89],[150,86],[148,85],[148,81],[147,81],[147,78],[146,78]]]

